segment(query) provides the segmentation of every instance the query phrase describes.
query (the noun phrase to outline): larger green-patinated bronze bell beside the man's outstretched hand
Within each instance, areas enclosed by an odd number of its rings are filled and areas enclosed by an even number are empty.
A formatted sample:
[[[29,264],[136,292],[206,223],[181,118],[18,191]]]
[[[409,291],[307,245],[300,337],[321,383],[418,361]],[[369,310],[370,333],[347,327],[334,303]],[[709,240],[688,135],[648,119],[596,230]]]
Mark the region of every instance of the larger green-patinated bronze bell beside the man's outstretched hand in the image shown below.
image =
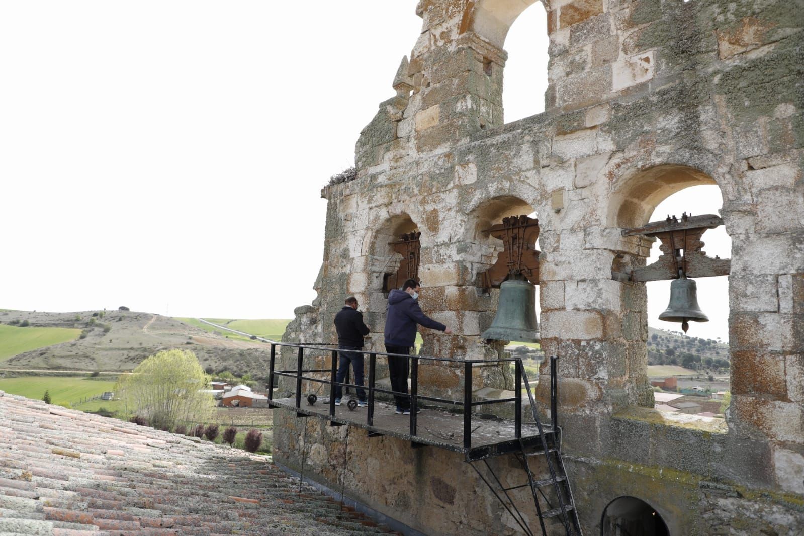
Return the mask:
[[[494,341],[539,342],[536,324],[536,288],[514,276],[500,284],[497,314],[480,336]]]

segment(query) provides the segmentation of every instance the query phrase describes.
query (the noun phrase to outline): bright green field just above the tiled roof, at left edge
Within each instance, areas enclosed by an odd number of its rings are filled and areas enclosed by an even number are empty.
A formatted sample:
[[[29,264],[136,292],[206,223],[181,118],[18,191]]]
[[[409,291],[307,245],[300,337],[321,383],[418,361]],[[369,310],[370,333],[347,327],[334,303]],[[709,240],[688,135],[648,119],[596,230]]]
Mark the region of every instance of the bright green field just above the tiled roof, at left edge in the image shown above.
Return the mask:
[[[101,395],[104,391],[113,391],[115,382],[74,376],[20,376],[19,378],[0,378],[0,391],[12,395],[22,395],[29,399],[41,400],[45,391],[50,392],[51,403],[73,404],[82,399]],[[108,400],[96,401],[97,406],[111,410],[113,404]],[[94,406],[96,403],[93,402]],[[87,407],[84,407],[87,406]],[[76,409],[91,411],[89,404],[76,406]]]

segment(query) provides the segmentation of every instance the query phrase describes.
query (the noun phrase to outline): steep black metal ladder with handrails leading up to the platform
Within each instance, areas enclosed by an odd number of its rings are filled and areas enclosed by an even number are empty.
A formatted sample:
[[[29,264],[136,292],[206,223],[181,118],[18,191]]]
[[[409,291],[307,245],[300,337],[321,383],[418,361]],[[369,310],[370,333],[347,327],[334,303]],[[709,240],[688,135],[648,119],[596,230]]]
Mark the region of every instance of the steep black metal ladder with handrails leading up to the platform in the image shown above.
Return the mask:
[[[494,473],[494,468],[490,466],[488,460],[484,459],[482,460],[483,464],[485,464],[488,473],[494,477],[494,483],[496,484],[495,488],[490,482],[490,479],[486,479],[480,469],[478,469],[473,462],[470,462],[470,464],[481,477],[482,481],[486,483],[491,492],[494,493],[494,497],[497,497],[498,501],[500,501],[507,512],[511,514],[511,517],[514,518],[514,521],[528,536],[534,536],[534,533],[528,526],[527,520],[524,518],[523,514],[516,507],[516,503],[509,493],[515,489],[522,489],[526,487],[531,489],[536,514],[539,518],[539,528],[541,529],[542,534],[548,534],[546,527],[544,526],[544,521],[546,519],[556,519],[558,522],[560,522],[561,526],[563,526],[564,534],[566,536],[582,536],[583,533],[580,530],[580,522],[578,520],[578,513],[575,506],[575,498],[572,497],[572,488],[569,485],[567,472],[564,468],[564,460],[561,458],[560,428],[558,428],[556,424],[556,358],[550,358],[550,390],[553,422],[547,430],[545,430],[541,420],[539,419],[539,412],[536,411],[536,404],[531,391],[531,384],[527,380],[527,374],[525,373],[522,362],[517,362],[516,366],[521,367],[519,373],[522,374],[525,388],[527,390],[527,398],[531,403],[533,420],[535,421],[536,428],[539,432],[539,444],[537,444],[535,447],[527,448],[523,443],[523,440],[520,439],[519,452],[514,453],[527,474],[527,483],[505,487],[497,477],[497,474]],[[550,475],[544,480],[536,480],[531,470],[531,464],[528,460],[533,459],[535,456],[544,456],[544,460],[547,462]],[[502,494],[499,492],[502,492]],[[548,497],[548,495],[550,497]],[[543,502],[544,506],[542,504]]]

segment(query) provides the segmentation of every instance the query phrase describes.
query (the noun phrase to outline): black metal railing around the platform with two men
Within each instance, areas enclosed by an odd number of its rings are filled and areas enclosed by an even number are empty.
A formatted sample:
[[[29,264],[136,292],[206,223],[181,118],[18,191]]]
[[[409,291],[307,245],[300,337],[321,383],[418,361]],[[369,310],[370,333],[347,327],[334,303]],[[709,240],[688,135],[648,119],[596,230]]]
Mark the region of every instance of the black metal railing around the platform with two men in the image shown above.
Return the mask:
[[[271,344],[271,354],[270,354],[270,361],[269,361],[269,377],[268,377],[268,399],[269,405],[273,400],[273,390],[276,386],[276,382],[274,378],[277,376],[282,376],[286,378],[293,378],[296,380],[296,388],[295,388],[295,407],[298,410],[301,409],[301,387],[302,381],[306,380],[309,382],[314,383],[321,383],[322,385],[328,385],[330,391],[330,402],[329,402],[329,411],[328,415],[330,417],[335,416],[335,388],[345,387],[345,388],[361,388],[367,391],[367,415],[366,415],[366,423],[368,426],[374,426],[374,402],[375,402],[375,394],[376,393],[384,393],[386,395],[393,395],[395,397],[403,397],[410,400],[410,436],[416,437],[417,436],[417,423],[416,423],[416,413],[419,407],[419,402],[421,400],[426,400],[429,402],[434,403],[441,403],[446,405],[452,406],[460,406],[463,408],[463,447],[466,449],[472,448],[472,409],[478,406],[486,406],[490,404],[501,404],[501,403],[509,403],[513,402],[515,405],[515,419],[514,419],[514,428],[515,428],[515,437],[513,439],[520,440],[522,439],[522,397],[523,397],[523,380],[524,383],[527,383],[527,374],[525,372],[525,367],[523,364],[522,358],[502,358],[502,359],[477,359],[477,360],[466,360],[466,359],[454,359],[454,358],[433,358],[433,357],[425,357],[425,356],[416,356],[416,355],[404,355],[404,354],[388,354],[386,352],[375,352],[375,351],[365,351],[365,350],[342,350],[351,352],[354,354],[363,354],[365,356],[368,355],[368,385],[361,386],[356,385],[354,383],[349,382],[337,382],[336,381],[336,374],[338,371],[338,351],[330,348],[325,348],[323,346],[313,346],[309,344],[290,344],[285,342],[273,342],[266,340],[266,342],[270,342]],[[296,348],[297,349],[297,359],[296,359],[296,369],[295,370],[275,370],[276,368],[276,354],[277,354],[277,346],[285,346],[289,348]],[[330,345],[327,345],[330,346]],[[329,369],[306,369],[304,368],[304,358],[305,358],[305,351],[306,350],[318,350],[324,351],[331,354],[331,366]],[[385,358],[405,358],[410,361],[410,392],[409,393],[402,393],[399,391],[392,391],[380,387],[376,387],[376,362],[377,357],[385,357]],[[453,400],[453,399],[444,399],[436,396],[425,396],[419,394],[419,363],[420,361],[426,362],[448,362],[448,363],[456,363],[458,365],[463,366],[463,397],[462,400]],[[552,429],[556,430],[556,361],[557,358],[552,357],[550,358],[550,424],[552,425]],[[493,399],[493,400],[473,400],[472,399],[472,375],[473,375],[473,367],[474,365],[481,365],[481,364],[499,364],[499,363],[507,363],[507,362],[514,362],[515,363],[515,396],[506,399]],[[324,378],[315,378],[310,375],[306,374],[327,374],[329,375],[329,379]],[[531,405],[533,404],[531,399]],[[534,415],[535,411],[534,411]],[[537,417],[538,419],[538,417]]]

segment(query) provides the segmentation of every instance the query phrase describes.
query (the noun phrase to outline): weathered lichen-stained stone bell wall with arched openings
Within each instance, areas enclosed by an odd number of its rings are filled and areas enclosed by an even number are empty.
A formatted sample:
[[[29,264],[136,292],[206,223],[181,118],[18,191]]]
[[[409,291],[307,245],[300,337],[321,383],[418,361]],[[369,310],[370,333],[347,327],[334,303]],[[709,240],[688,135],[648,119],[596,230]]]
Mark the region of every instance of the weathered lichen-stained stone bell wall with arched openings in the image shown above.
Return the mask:
[[[623,495],[657,509],[674,535],[804,533],[804,5],[545,0],[546,111],[505,125],[503,43],[532,3],[419,3],[422,33],[396,95],[361,133],[357,178],[322,191],[318,298],[284,340],[334,341],[331,319],[355,294],[382,351],[383,274],[398,263],[388,242],[418,229],[421,305],[455,332],[423,333],[422,354],[496,356],[479,341],[496,291],[477,286],[501,244],[484,230],[536,211],[542,345],[560,356],[564,452],[586,534]],[[652,409],[645,286],[612,279],[643,266],[651,245],[621,229],[707,183],[720,187],[732,238],[725,423]],[[456,370],[421,368],[421,384],[456,394]],[[478,390],[510,387],[496,366],[474,377]],[[515,533],[460,456],[356,431],[347,451],[347,427],[275,418],[277,460],[300,468],[306,437],[305,473],[340,489],[348,456],[347,494],[409,526]]]

